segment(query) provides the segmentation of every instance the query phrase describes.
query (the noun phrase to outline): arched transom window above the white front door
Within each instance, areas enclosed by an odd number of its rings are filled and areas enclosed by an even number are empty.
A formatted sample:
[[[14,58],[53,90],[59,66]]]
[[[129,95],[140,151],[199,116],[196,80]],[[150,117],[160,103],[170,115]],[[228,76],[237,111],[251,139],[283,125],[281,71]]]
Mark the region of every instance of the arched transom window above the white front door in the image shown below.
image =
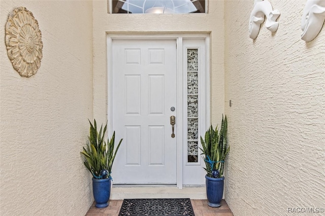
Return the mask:
[[[205,13],[206,0],[112,0],[113,14]]]

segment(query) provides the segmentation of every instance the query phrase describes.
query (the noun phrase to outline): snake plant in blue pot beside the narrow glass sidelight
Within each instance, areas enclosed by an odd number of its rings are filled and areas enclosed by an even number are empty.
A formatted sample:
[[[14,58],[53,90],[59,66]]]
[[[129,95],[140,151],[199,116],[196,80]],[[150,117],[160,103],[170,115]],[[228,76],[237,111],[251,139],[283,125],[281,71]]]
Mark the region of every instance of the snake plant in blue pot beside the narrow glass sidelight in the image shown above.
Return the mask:
[[[218,126],[213,129],[212,125],[205,133],[204,139],[201,137],[202,154],[205,161],[207,174],[206,178],[206,192],[208,198],[208,205],[210,207],[220,207],[223,185],[224,185],[224,160],[228,154],[230,147],[226,147],[227,142],[227,117],[225,116],[222,122],[221,128],[218,130]]]

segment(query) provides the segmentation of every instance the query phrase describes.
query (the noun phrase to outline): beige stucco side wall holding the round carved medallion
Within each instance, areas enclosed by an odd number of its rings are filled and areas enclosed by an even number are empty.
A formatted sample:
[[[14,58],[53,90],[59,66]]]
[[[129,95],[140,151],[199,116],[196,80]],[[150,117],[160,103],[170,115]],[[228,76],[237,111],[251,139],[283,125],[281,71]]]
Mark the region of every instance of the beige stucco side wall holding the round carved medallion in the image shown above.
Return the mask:
[[[39,22],[38,73],[20,77],[5,24],[16,7]],[[0,215],[84,215],[91,177],[80,151],[92,119],[91,1],[0,3]]]

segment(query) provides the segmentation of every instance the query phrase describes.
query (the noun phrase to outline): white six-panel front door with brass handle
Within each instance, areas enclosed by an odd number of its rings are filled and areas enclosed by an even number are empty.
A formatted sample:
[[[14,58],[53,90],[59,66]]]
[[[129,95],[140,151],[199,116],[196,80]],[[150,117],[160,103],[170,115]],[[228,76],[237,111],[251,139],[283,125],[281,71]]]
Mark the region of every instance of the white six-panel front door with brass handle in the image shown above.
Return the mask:
[[[176,40],[112,41],[114,184],[176,184]]]

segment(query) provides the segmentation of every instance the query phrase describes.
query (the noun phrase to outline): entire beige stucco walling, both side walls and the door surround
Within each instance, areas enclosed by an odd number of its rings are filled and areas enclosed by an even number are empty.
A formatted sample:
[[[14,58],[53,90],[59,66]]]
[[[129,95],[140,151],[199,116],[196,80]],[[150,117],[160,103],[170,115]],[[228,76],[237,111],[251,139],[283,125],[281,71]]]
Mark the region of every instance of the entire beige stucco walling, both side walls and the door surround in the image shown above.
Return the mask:
[[[2,0],[0,214],[88,210],[91,178],[79,152],[87,118],[106,121],[107,33],[210,32],[211,122],[229,119],[225,198],[233,213],[325,207],[325,31],[300,39],[305,3],[271,1],[279,29],[263,24],[252,41],[253,1],[212,0],[209,14],[121,15],[108,14],[106,0]],[[7,16],[21,6],[38,20],[44,44],[31,78],[13,69],[5,45]]]

